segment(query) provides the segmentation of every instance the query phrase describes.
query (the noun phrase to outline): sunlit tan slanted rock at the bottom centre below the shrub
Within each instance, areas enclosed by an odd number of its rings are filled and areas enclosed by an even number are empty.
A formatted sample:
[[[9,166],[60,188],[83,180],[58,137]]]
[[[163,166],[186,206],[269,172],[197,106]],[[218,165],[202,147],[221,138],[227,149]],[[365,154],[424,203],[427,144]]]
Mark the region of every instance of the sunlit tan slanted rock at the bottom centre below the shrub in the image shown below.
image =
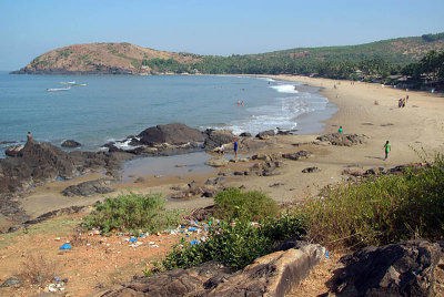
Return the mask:
[[[284,296],[307,276],[325,255],[305,245],[258,258],[234,274],[216,262],[142,277],[98,296]]]

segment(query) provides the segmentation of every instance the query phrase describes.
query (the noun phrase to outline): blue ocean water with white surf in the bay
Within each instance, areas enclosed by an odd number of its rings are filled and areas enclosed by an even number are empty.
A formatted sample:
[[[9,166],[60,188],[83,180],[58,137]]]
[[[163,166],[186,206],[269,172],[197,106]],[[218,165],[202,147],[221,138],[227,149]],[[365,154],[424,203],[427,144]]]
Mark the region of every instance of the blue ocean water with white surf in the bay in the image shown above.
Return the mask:
[[[64,88],[60,82],[68,81],[87,85],[47,92]],[[301,134],[321,132],[320,121],[329,119],[334,106],[317,89],[297,91],[294,85],[300,83],[232,75],[0,72],[0,157],[7,146],[24,143],[28,131],[36,140],[56,145],[75,140],[82,143],[81,150],[99,150],[107,142],[173,122],[200,130],[229,129],[235,134],[276,127],[297,129]],[[239,106],[238,100],[244,105]]]

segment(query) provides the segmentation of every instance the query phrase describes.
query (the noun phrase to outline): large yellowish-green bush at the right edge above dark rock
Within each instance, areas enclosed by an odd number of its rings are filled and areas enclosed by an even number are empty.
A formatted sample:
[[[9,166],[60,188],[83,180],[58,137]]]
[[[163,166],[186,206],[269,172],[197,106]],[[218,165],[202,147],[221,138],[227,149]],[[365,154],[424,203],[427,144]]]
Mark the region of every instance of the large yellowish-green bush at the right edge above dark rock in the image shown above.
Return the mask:
[[[327,247],[444,237],[444,162],[341,185],[301,209],[309,236]]]

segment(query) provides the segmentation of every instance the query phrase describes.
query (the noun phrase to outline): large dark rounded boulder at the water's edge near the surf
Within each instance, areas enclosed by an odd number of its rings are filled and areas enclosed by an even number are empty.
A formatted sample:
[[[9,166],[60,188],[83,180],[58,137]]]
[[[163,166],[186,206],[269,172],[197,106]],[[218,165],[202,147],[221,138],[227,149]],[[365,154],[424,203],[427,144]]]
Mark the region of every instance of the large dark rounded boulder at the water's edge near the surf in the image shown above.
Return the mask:
[[[151,126],[142,131],[138,136],[140,137],[139,142],[145,145],[159,143],[181,145],[189,142],[203,142],[205,140],[205,136],[199,130],[181,123]]]

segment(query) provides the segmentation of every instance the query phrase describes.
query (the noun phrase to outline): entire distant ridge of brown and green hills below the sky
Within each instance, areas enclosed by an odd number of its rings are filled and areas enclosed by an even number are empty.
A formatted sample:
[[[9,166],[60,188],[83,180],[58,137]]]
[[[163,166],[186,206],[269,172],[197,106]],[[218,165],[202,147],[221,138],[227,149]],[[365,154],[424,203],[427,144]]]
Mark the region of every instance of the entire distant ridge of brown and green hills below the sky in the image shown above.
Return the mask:
[[[60,48],[32,60],[17,74],[291,73],[292,64],[382,59],[398,65],[444,49],[444,33],[397,38],[360,45],[296,48],[232,57],[175,53],[130,43],[85,43]]]

